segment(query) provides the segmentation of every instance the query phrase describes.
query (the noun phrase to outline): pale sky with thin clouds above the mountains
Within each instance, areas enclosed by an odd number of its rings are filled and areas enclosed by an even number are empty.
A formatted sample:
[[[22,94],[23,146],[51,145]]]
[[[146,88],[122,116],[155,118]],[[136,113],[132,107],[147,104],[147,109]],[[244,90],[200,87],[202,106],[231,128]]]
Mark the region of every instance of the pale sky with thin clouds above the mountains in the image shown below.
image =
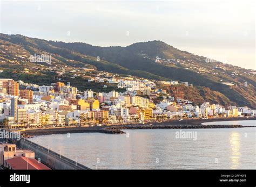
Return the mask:
[[[97,46],[161,40],[183,51],[256,69],[255,12],[250,0],[0,0],[0,32]]]

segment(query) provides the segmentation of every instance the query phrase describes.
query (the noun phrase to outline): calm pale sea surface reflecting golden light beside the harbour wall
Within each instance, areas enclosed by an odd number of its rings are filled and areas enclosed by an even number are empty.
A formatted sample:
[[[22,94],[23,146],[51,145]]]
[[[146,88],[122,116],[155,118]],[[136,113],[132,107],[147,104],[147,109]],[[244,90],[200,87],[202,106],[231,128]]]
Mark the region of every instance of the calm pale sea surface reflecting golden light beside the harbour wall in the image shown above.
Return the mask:
[[[125,132],[53,134],[31,140],[92,169],[256,169],[255,127]]]

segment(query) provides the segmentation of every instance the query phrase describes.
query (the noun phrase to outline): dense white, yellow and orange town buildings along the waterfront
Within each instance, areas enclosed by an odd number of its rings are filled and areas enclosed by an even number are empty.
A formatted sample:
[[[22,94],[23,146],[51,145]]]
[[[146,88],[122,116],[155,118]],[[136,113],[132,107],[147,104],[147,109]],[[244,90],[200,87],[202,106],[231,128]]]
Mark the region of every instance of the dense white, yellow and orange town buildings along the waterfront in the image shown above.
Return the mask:
[[[188,82],[134,77],[103,78],[100,75],[87,81],[117,84],[119,89],[125,91],[80,91],[72,87],[70,82],[37,85],[1,78],[1,127],[25,130],[145,124],[169,120],[250,117],[255,112],[246,106],[224,107],[209,102],[196,105],[184,98],[174,98],[159,87],[163,84],[193,87]]]

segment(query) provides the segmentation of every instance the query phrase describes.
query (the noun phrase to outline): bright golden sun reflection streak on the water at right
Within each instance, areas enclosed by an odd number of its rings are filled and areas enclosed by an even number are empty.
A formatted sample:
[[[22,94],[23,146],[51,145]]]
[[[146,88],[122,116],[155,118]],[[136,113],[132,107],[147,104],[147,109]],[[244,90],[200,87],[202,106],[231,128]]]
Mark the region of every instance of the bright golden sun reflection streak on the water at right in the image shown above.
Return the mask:
[[[237,169],[240,164],[240,133],[232,132],[230,135],[231,169]]]

